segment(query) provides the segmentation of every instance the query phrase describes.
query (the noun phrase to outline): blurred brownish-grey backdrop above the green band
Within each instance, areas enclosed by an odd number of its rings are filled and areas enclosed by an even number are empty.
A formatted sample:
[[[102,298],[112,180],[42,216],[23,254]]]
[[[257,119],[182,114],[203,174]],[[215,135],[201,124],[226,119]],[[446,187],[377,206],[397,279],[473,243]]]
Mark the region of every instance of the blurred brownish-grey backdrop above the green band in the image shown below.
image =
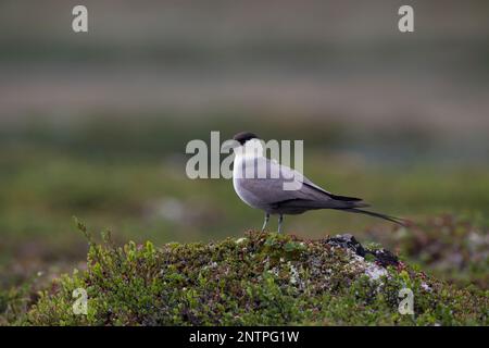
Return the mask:
[[[0,2],[0,120],[244,109],[489,130],[487,1]]]

